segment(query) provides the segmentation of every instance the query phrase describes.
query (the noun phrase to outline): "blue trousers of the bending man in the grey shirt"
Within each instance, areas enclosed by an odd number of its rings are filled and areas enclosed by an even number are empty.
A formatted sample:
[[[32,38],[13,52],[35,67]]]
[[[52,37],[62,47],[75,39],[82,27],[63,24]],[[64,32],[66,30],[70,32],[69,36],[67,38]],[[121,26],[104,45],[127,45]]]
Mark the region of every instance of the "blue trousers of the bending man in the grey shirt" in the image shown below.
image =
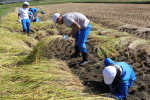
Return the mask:
[[[90,34],[91,28],[92,28],[91,24],[88,24],[86,28],[80,29],[74,34],[75,45],[79,47],[81,53],[87,53],[85,43],[87,41],[88,35]]]

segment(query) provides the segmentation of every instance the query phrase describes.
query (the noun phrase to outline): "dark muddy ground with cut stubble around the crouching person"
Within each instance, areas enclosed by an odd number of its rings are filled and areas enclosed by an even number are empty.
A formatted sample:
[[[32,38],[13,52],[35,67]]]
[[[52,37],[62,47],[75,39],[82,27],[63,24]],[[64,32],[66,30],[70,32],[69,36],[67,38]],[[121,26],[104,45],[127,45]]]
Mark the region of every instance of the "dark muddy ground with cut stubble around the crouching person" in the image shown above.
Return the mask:
[[[81,61],[81,57],[69,57],[74,52],[72,45],[66,47],[66,52],[64,52],[63,49],[60,53],[57,52],[55,57],[68,63],[72,73],[80,78],[82,83],[86,86],[86,90],[90,90],[93,94],[109,93],[109,87],[104,84],[102,76],[102,70],[104,68],[103,58],[97,56],[97,53],[92,48],[93,46],[94,45],[87,42],[90,62],[85,66],[78,65]],[[137,75],[137,80],[129,89],[129,95],[126,100],[149,100],[150,56],[147,54],[146,50],[139,47],[137,50],[133,51],[124,47],[119,50],[118,55],[112,57],[112,59],[114,61],[127,62],[133,67]]]

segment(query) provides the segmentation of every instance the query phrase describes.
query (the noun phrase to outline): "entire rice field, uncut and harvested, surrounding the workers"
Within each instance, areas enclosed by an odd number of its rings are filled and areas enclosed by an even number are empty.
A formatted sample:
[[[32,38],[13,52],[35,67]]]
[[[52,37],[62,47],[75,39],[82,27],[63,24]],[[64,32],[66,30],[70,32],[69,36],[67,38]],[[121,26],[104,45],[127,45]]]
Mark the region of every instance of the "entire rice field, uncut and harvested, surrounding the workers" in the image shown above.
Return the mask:
[[[31,23],[31,36],[22,33],[17,10],[0,24],[0,99],[2,100],[113,100],[106,96],[102,70],[106,57],[129,63],[137,80],[125,100],[150,98],[149,4],[64,3],[42,7],[41,22]],[[89,64],[79,66],[70,32],[54,25],[53,13],[83,13],[91,20],[87,41]]]

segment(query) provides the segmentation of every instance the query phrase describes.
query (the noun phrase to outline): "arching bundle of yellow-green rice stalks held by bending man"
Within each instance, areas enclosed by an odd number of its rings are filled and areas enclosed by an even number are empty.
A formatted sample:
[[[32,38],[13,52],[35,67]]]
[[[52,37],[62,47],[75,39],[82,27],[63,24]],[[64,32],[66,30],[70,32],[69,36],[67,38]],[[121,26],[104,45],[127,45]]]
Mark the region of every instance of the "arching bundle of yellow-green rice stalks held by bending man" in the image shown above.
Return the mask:
[[[27,62],[34,62],[42,59],[43,57],[52,58],[55,54],[58,54],[58,49],[63,49],[69,44],[73,44],[73,39],[65,41],[60,35],[49,36],[40,41],[25,59]]]

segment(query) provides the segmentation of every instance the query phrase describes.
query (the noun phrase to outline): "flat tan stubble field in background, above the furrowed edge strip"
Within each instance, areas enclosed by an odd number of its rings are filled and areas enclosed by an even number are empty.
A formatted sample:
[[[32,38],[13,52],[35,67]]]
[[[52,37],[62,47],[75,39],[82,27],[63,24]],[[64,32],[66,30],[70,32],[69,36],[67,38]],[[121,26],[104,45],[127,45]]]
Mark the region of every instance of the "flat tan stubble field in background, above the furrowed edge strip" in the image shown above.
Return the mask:
[[[103,20],[120,21],[126,24],[148,27],[150,25],[150,4],[105,4],[105,3],[65,3],[33,7],[47,9],[44,17],[55,12],[61,14],[80,12],[94,22]]]

